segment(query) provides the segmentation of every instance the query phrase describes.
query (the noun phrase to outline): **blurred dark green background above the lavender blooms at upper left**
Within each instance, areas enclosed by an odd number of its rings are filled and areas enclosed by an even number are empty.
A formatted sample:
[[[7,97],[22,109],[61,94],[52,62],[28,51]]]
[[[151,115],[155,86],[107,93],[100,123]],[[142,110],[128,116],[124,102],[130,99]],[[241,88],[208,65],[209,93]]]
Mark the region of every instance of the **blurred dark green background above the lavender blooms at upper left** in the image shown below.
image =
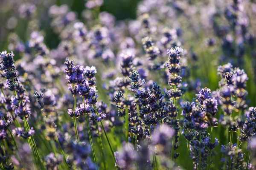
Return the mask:
[[[139,2],[140,0],[105,0],[103,5],[99,7],[99,12],[107,11],[113,14],[117,21],[135,19]],[[36,4],[38,20],[29,21],[20,17],[22,12],[20,5],[23,3]],[[47,14],[49,7],[54,4],[58,6],[67,4],[70,10],[76,13],[77,18],[83,20],[84,15],[86,15],[86,3],[87,1],[85,0],[0,0],[0,51],[8,48],[8,35],[10,32],[17,33],[23,42],[28,40],[30,34],[26,30],[28,27],[35,26],[35,22],[40,22],[39,30],[44,30],[44,42],[47,47],[56,48],[59,44],[59,39],[50,26],[51,18]],[[17,59],[19,56],[15,55],[15,58]]]

